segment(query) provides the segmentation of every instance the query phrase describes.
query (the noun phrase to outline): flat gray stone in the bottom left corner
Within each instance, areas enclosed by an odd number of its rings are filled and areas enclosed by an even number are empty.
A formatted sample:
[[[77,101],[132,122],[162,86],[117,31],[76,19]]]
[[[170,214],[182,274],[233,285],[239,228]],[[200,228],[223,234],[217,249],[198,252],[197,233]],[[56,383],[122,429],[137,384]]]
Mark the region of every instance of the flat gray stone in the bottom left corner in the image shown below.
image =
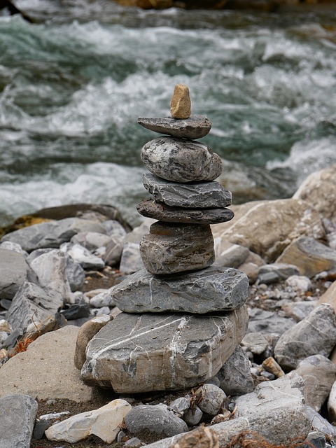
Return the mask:
[[[0,398],[0,447],[29,448],[37,402],[29,395],[15,393]]]

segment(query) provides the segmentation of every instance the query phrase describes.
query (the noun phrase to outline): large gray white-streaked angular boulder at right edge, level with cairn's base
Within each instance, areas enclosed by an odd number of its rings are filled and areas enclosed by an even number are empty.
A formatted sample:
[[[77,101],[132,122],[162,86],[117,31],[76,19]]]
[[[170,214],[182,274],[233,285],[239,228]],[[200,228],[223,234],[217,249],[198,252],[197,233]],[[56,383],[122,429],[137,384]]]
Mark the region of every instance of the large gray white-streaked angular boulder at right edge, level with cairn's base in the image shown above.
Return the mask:
[[[307,318],[281,335],[274,357],[283,369],[291,370],[308,356],[330,355],[336,345],[336,316],[330,304],[321,304]]]

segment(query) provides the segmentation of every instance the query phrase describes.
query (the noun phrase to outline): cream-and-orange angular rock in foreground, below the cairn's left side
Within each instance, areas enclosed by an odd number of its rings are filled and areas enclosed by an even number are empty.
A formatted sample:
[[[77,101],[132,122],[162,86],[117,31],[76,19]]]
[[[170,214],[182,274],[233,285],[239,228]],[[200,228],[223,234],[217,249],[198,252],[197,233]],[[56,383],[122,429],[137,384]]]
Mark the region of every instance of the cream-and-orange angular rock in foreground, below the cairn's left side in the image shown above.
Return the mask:
[[[76,443],[89,435],[97,435],[106,443],[116,439],[120,425],[132,406],[125,400],[113,400],[93,411],[76,414],[45,430],[48,440]]]

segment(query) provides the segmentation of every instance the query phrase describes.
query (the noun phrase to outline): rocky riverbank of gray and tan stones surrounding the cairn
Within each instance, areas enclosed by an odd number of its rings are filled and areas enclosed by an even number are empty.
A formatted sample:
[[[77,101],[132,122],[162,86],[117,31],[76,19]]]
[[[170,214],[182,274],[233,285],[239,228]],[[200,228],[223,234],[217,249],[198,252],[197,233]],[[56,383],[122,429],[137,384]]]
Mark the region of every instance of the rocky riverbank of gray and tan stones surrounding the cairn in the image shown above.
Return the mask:
[[[312,174],[290,199],[232,206],[232,221],[211,226],[214,266],[248,276],[248,329],[205,384],[182,391],[144,392],[146,376],[139,393],[80,378],[92,337],[113,319],[122,328],[114,285],[144,268],[153,220],[131,230],[113,207],[81,204],[4,235],[1,447],[241,447],[250,431],[258,447],[297,436],[336,446],[335,174]]]

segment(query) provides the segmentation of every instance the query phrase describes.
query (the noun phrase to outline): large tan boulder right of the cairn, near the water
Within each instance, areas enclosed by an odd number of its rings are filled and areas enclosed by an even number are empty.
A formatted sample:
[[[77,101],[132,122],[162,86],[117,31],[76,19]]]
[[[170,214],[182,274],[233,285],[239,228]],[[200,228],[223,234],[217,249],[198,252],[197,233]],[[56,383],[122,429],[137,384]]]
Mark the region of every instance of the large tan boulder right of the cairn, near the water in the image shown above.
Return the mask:
[[[259,202],[221,237],[246,246],[269,263],[274,262],[291,241],[302,235],[323,238],[325,231],[321,218],[306,202],[286,199]]]

